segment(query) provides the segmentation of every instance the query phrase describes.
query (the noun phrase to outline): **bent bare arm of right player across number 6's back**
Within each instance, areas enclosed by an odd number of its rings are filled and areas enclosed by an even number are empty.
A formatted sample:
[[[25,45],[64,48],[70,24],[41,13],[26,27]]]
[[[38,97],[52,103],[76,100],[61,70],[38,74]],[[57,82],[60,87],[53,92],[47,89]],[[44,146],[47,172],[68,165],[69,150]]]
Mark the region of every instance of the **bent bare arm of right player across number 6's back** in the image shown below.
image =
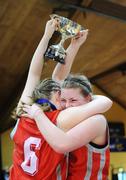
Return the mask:
[[[79,107],[79,109],[82,109],[81,107]],[[69,108],[69,110],[67,110],[65,110],[64,114],[67,113],[69,118],[71,118],[72,114],[70,111],[76,111],[75,108]],[[96,137],[103,135],[103,132],[106,130],[106,120],[102,115],[92,116],[68,132],[63,132],[52,124],[42,110],[35,104],[29,108],[28,111],[32,118],[35,119],[39,130],[47,142],[59,153],[73,151],[94,140]]]

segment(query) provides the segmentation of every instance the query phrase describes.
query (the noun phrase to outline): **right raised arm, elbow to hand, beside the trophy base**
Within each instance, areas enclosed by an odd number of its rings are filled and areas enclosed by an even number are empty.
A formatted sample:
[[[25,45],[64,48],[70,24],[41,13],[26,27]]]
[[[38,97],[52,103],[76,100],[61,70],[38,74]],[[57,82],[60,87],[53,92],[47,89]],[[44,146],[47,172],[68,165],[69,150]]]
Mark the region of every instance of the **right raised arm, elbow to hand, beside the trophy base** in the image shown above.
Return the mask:
[[[80,32],[71,40],[69,47],[66,50],[65,64],[58,63],[53,71],[52,78],[59,83],[62,82],[70,73],[75,56],[80,46],[86,41],[88,30]]]

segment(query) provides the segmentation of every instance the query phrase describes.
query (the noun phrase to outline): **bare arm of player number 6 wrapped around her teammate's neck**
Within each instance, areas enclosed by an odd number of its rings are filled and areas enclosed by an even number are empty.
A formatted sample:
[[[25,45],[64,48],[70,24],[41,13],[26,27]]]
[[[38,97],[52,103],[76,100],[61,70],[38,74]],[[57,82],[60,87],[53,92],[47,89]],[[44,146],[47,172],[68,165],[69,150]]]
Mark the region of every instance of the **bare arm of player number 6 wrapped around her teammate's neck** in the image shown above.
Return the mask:
[[[112,101],[105,96],[94,96],[94,99],[82,106],[65,109],[57,118],[58,126],[68,131],[85,119],[106,112],[112,106]],[[69,116],[68,116],[69,114]]]

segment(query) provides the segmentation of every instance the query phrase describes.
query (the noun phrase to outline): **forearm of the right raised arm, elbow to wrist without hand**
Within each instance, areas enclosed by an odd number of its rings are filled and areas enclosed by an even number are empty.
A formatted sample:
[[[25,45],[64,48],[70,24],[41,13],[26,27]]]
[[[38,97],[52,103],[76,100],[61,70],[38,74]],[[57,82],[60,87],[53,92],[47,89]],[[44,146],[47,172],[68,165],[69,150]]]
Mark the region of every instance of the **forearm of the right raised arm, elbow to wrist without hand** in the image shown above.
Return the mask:
[[[65,64],[58,63],[53,71],[52,78],[55,81],[63,81],[68,76],[78,50],[79,46],[74,44],[69,45],[66,50]]]

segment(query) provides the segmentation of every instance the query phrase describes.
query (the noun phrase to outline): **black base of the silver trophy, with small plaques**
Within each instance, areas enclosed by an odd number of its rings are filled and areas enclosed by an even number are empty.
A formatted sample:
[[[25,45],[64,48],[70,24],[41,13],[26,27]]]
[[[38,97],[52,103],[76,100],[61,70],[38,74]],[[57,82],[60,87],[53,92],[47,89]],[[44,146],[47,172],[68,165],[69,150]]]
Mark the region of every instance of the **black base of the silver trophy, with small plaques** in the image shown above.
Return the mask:
[[[66,54],[56,51],[56,49],[53,46],[50,46],[48,48],[44,56],[46,58],[52,59],[53,61],[57,61],[61,64],[65,64],[64,59],[65,59]]]

